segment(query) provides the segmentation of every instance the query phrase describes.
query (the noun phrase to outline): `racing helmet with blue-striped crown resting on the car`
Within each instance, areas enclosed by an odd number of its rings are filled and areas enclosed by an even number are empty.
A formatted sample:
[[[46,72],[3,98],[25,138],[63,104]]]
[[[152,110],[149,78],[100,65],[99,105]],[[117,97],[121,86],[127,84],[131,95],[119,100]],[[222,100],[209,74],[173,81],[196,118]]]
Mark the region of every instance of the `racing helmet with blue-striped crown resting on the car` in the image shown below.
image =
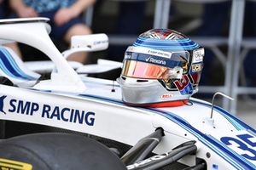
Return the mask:
[[[118,82],[128,105],[184,105],[198,91],[204,48],[169,29],[144,32],[125,51]]]

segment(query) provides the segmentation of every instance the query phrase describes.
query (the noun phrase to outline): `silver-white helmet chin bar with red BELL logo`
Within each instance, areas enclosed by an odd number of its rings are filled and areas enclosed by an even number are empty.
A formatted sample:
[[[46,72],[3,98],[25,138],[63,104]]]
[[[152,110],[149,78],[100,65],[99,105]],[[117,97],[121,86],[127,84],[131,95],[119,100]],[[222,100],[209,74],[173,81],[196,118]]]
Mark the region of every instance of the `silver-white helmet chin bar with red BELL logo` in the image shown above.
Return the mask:
[[[176,102],[174,106],[177,106],[177,103],[178,105],[184,105],[183,100],[188,100],[191,96],[191,94],[181,95],[177,88],[168,91],[159,80],[148,80],[147,82],[138,80],[140,79],[124,76],[118,78],[119,85],[122,88],[123,101],[127,105],[154,105],[156,107],[163,103],[166,106],[172,106],[172,101],[182,101]]]

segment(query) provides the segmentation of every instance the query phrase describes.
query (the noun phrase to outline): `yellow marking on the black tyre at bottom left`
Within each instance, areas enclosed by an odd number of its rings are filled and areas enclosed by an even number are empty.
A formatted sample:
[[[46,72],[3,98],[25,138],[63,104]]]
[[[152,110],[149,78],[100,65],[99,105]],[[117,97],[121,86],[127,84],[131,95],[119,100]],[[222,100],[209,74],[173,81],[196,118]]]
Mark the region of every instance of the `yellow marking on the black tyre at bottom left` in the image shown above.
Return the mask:
[[[32,165],[25,162],[21,162],[21,161],[13,161],[13,160],[0,158],[0,169],[1,170],[32,170]]]

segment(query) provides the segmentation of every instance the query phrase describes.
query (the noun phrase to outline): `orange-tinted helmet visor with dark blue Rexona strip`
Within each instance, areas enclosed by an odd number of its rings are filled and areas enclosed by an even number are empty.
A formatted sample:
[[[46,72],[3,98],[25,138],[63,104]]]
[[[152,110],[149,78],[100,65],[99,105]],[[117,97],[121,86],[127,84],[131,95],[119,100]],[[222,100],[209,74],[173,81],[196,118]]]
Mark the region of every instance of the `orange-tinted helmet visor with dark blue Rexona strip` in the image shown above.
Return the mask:
[[[143,48],[128,48],[125,52],[122,75],[125,77],[164,79],[182,77],[188,71],[189,53],[175,52],[169,53],[169,57],[160,56],[160,50],[150,49],[150,54]],[[147,48],[148,50],[148,48]],[[133,51],[133,52],[131,52]],[[166,52],[162,52],[166,53]],[[155,55],[152,55],[155,54]]]

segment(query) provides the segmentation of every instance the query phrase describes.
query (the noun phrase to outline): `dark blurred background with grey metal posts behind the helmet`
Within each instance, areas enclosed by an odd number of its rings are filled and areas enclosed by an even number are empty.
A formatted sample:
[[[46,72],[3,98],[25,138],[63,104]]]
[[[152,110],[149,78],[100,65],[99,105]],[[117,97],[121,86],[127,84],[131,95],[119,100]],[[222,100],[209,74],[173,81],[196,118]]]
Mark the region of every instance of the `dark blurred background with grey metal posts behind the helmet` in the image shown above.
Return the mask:
[[[7,17],[15,11],[7,0],[3,6]],[[122,62],[125,49],[152,28],[180,31],[200,43],[206,54],[195,97],[212,101],[217,91],[228,94],[235,101],[218,98],[217,105],[256,127],[256,1],[97,0],[80,16],[91,32],[106,33],[110,42],[108,50],[88,54],[84,64],[97,59]],[[68,48],[65,41],[55,44],[61,51]],[[23,44],[19,48],[25,61],[47,59]]]

